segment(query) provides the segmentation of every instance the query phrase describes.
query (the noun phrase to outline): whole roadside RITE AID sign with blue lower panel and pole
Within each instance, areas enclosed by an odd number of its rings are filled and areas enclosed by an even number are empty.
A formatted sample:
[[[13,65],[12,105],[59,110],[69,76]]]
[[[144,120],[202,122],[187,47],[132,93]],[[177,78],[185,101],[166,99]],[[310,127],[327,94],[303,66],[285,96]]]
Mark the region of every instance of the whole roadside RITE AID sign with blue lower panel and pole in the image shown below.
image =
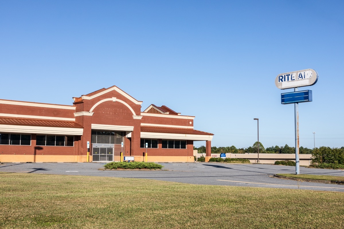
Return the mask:
[[[281,93],[281,103],[294,103],[295,110],[295,170],[296,174],[300,174],[300,158],[299,158],[299,103],[312,102],[312,91],[299,91],[298,87],[314,85],[318,81],[319,75],[313,69],[304,69],[300,71],[286,72],[277,75],[275,79],[276,87],[279,89],[294,88],[294,92]]]

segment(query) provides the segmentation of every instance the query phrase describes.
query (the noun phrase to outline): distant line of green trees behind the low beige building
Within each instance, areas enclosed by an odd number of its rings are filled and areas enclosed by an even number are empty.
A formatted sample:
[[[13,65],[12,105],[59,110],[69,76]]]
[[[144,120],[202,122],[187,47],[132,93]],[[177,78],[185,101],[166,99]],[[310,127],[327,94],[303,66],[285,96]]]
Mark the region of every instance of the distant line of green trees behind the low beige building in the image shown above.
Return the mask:
[[[195,147],[194,150],[198,150],[198,153],[205,153],[205,146]],[[256,141],[252,146],[245,148],[236,148],[235,146],[227,147],[212,147],[212,153],[257,153],[258,152],[258,142]],[[295,147],[290,147],[287,144],[285,146],[271,146],[264,148],[264,146],[259,142],[259,153],[295,153]],[[307,147],[299,147],[300,154],[312,154],[313,149],[308,149]]]

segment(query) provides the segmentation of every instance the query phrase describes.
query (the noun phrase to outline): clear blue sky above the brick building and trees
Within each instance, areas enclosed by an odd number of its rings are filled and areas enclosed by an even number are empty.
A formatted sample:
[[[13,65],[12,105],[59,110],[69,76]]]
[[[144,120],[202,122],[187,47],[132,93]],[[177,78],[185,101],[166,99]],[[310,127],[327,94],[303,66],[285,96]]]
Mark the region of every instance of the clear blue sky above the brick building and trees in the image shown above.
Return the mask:
[[[196,116],[212,146],[295,145],[279,73],[312,68],[300,146],[344,146],[344,1],[0,1],[0,99],[68,104],[116,85]],[[205,142],[194,142],[196,147]]]

